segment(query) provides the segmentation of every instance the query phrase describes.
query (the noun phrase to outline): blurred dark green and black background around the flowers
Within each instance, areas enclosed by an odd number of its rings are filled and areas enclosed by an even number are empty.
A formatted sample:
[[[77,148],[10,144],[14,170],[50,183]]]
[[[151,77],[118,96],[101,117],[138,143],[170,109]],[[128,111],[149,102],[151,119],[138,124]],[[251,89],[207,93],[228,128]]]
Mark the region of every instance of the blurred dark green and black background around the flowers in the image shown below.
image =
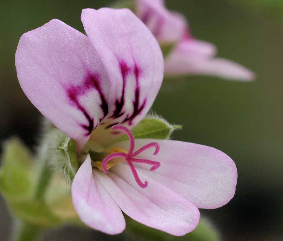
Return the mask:
[[[41,114],[22,92],[14,55],[24,32],[57,18],[83,32],[83,8],[110,0],[0,0],[0,141],[17,135],[34,150]],[[235,197],[224,207],[201,210],[223,240],[283,240],[283,1],[166,0],[192,34],[218,47],[218,56],[257,74],[254,82],[190,76],[167,80],[152,109],[182,124],[173,139],[213,146],[238,168]],[[0,197],[0,240],[12,219]],[[74,227],[46,232],[42,240],[123,240]]]

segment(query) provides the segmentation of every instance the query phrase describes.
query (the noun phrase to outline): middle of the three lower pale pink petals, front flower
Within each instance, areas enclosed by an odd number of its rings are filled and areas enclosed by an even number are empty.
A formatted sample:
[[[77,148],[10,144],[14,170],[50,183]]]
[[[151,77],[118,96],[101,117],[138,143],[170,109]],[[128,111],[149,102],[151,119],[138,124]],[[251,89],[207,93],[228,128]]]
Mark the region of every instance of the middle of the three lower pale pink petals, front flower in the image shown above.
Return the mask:
[[[108,174],[94,172],[122,211],[134,220],[176,236],[185,235],[198,225],[200,213],[194,204],[139,169],[141,180],[149,183],[145,189],[136,183],[127,164],[116,164]]]

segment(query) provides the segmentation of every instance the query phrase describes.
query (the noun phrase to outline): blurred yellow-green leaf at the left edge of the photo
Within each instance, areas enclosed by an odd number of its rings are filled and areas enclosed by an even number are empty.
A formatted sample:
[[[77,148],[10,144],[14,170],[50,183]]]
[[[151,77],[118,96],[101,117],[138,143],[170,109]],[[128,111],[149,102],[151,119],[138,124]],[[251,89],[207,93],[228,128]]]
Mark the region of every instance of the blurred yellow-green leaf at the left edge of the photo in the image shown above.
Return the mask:
[[[17,138],[4,144],[0,169],[0,190],[7,198],[28,196],[32,192],[32,156]]]

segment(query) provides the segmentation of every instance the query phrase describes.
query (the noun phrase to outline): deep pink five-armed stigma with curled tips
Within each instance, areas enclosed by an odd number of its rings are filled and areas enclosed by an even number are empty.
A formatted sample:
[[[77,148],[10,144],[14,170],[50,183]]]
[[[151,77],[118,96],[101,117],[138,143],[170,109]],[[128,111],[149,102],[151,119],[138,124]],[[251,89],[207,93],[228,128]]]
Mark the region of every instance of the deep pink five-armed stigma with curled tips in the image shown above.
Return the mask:
[[[108,161],[110,161],[111,159],[113,158],[116,158],[116,157],[122,157],[125,159],[125,161],[128,163],[133,175],[134,175],[134,178],[136,180],[136,183],[141,187],[141,188],[146,188],[148,186],[148,182],[147,181],[144,181],[144,183],[141,182],[141,179],[139,179],[139,176],[137,174],[137,171],[133,165],[133,162],[136,162],[136,163],[144,163],[144,164],[149,164],[149,165],[152,165],[152,168],[150,169],[150,171],[154,171],[156,170],[157,168],[160,167],[160,162],[158,161],[152,161],[152,160],[147,160],[147,159],[139,159],[139,158],[134,158],[136,155],[138,155],[139,153],[145,151],[146,149],[148,148],[151,148],[151,147],[155,147],[155,151],[153,153],[153,155],[156,155],[159,150],[160,150],[160,146],[157,142],[150,142],[148,144],[146,144],[145,146],[139,148],[139,150],[135,151],[134,152],[134,148],[135,148],[135,141],[134,141],[134,136],[133,134],[131,133],[131,131],[126,128],[125,126],[120,126],[120,125],[115,125],[115,126],[112,126],[112,130],[115,130],[115,129],[118,129],[118,130],[121,130],[121,131],[124,131],[127,136],[129,137],[129,140],[130,140],[130,148],[129,148],[129,151],[126,153],[123,153],[123,152],[115,152],[115,153],[112,153],[108,156],[106,156],[104,158],[104,160],[102,161],[102,170],[107,173],[107,169],[106,169],[106,165],[108,163]]]

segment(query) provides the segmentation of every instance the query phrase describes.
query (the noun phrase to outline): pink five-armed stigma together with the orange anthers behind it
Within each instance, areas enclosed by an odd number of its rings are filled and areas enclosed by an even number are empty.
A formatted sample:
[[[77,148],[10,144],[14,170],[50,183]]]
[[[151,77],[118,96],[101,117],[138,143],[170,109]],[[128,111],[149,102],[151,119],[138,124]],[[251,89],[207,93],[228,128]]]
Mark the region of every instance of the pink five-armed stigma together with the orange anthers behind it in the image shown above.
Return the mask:
[[[156,155],[159,152],[159,149],[160,149],[159,144],[157,142],[150,142],[147,145],[139,148],[137,151],[134,152],[135,141],[134,141],[134,136],[131,133],[131,131],[129,131],[129,129],[126,128],[125,126],[120,126],[120,125],[115,125],[115,126],[112,127],[112,130],[115,130],[115,129],[124,131],[127,134],[127,136],[129,137],[129,140],[130,140],[129,151],[126,152],[125,150],[123,150],[121,148],[117,148],[117,147],[111,148],[110,151],[108,151],[108,153],[109,152],[110,153],[112,152],[112,153],[110,155],[106,156],[102,162],[96,161],[96,163],[97,163],[97,164],[95,164],[95,165],[97,165],[96,167],[98,169],[102,170],[103,172],[107,173],[108,172],[107,170],[109,168],[111,168],[112,166],[114,166],[116,163],[126,162],[129,165],[137,184],[141,188],[146,188],[148,186],[148,182],[147,181],[144,181],[144,183],[141,182],[141,180],[139,179],[139,176],[137,174],[137,171],[136,171],[136,169],[133,165],[133,162],[152,165],[150,171],[154,171],[155,169],[159,168],[160,162],[152,161],[152,160],[148,160],[148,159],[139,159],[139,158],[134,158],[134,157],[137,156],[139,153],[141,153],[141,152],[143,152],[146,149],[151,148],[151,147],[155,147],[155,151],[154,151],[153,155]],[[93,166],[94,166],[94,164],[93,164]]]

